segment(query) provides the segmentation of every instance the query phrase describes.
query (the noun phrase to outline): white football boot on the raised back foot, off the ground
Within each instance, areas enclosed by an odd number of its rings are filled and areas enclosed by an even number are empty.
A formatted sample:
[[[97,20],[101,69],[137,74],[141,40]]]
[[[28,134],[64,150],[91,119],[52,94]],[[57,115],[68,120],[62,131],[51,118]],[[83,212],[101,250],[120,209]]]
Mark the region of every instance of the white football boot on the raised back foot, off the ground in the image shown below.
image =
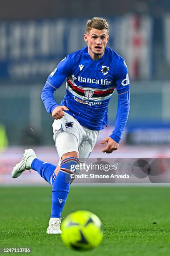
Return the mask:
[[[31,169],[32,161],[37,158],[33,149],[25,149],[25,153],[23,154],[23,159],[14,166],[13,172],[11,172],[11,176],[13,178],[17,178],[24,171]]]

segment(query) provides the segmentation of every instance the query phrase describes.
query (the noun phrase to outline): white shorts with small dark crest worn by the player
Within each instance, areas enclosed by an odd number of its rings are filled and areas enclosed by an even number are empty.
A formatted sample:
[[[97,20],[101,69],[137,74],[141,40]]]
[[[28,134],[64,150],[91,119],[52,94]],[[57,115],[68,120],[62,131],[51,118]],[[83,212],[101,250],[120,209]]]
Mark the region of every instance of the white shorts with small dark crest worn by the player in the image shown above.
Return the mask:
[[[65,153],[76,151],[83,162],[89,157],[100,133],[80,125],[72,115],[67,113],[61,119],[55,119],[52,128],[60,159]]]

